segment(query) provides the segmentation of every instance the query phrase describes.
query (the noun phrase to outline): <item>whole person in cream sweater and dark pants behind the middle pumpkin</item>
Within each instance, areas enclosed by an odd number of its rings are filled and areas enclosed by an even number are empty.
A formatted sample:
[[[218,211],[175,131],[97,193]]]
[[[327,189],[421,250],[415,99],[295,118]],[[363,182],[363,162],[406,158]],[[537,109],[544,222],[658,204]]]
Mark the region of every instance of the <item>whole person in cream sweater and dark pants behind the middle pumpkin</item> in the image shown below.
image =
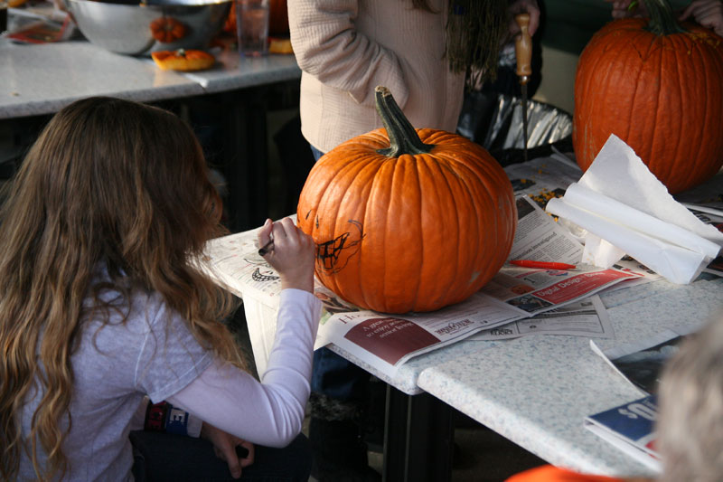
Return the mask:
[[[540,23],[536,0],[288,0],[301,75],[301,131],[315,159],[381,127],[374,88],[390,89],[417,128],[455,132],[465,83],[491,78],[500,46],[519,32],[514,14]],[[358,422],[369,375],[322,348],[314,355],[309,435],[313,475],[376,478]]]

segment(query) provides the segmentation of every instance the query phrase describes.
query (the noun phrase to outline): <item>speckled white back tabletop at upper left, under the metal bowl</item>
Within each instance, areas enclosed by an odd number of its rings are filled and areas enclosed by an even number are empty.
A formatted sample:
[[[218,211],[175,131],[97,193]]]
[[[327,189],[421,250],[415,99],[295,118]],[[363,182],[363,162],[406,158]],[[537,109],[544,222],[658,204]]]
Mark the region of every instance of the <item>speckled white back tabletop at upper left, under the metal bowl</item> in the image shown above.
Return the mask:
[[[0,39],[0,118],[52,114],[70,102],[107,95],[141,102],[248,88],[301,76],[293,55],[241,59],[217,54],[209,71],[162,71],[150,58],[86,41],[16,44]]]

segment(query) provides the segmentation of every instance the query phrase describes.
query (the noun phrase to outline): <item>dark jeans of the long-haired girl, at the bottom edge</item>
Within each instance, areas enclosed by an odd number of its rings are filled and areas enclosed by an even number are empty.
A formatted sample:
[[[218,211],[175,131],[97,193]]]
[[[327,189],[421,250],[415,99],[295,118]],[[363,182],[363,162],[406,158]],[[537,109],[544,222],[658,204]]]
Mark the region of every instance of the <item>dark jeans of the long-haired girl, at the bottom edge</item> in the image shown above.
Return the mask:
[[[136,430],[130,433],[136,482],[306,482],[311,473],[309,440],[299,434],[284,449],[257,445],[254,463],[241,478],[230,477],[229,466],[213,452],[211,442],[182,435]]]

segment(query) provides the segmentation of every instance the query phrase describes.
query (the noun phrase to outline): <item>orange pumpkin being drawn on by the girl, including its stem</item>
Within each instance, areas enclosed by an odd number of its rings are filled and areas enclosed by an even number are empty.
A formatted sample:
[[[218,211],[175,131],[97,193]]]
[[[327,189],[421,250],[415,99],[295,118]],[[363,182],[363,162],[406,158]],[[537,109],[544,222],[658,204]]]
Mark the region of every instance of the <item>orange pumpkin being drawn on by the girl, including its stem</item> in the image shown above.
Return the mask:
[[[482,146],[413,128],[377,87],[386,127],[314,165],[297,222],[316,244],[316,276],[359,307],[430,311],[472,295],[502,267],[517,226],[512,184]]]

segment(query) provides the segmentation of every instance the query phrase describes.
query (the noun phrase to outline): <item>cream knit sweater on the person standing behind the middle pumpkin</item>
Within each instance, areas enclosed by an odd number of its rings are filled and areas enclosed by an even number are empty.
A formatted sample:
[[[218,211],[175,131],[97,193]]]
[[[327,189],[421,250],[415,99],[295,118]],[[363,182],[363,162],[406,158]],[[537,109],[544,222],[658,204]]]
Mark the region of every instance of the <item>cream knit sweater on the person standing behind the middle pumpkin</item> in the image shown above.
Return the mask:
[[[437,14],[411,0],[288,0],[301,75],[301,130],[328,152],[381,127],[374,88],[388,87],[415,128],[455,131],[464,75],[445,53],[446,0]]]

